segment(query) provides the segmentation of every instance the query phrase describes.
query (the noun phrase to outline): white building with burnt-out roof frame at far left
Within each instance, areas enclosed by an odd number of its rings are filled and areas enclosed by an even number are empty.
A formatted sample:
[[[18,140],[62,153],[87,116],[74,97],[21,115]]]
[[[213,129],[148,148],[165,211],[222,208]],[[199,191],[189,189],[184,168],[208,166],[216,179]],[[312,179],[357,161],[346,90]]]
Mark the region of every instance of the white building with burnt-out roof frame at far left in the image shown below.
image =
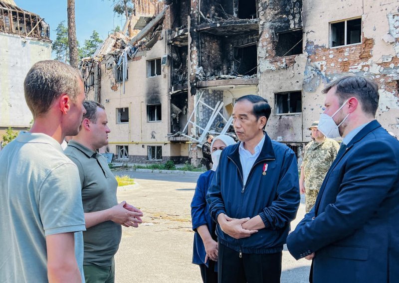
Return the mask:
[[[8,127],[29,127],[32,114],[25,103],[23,80],[34,63],[51,59],[49,31],[39,15],[23,10],[14,0],[0,0],[0,138]]]

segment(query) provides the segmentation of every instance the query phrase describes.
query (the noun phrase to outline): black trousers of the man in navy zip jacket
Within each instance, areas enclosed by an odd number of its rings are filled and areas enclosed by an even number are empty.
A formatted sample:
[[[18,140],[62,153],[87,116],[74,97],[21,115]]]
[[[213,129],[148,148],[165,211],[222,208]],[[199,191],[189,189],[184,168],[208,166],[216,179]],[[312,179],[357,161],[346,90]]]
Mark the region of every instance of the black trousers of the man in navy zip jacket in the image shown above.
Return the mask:
[[[219,283],[280,283],[282,252],[244,254],[218,245]]]

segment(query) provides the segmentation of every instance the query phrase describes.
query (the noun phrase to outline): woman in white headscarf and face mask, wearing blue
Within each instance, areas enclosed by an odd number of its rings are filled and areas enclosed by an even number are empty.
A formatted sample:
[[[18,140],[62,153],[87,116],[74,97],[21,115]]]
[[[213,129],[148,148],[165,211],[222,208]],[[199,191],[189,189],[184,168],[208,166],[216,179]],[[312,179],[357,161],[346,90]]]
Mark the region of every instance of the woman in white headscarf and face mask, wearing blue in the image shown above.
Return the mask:
[[[191,202],[193,230],[196,232],[194,235],[193,264],[200,266],[204,283],[217,283],[217,264],[215,264],[217,261],[216,223],[210,218],[206,193],[219,163],[221,151],[234,143],[233,138],[226,135],[220,135],[213,139],[210,145],[212,168],[202,173],[198,178],[196,191]]]

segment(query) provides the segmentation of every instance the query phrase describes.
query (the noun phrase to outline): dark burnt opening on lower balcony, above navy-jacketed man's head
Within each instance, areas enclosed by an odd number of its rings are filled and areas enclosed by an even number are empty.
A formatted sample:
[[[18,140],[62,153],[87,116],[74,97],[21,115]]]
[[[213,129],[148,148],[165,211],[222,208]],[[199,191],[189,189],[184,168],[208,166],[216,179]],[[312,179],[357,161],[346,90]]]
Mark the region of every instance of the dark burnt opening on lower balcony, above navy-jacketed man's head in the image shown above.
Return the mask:
[[[234,48],[235,71],[239,75],[252,76],[257,73],[257,45]]]

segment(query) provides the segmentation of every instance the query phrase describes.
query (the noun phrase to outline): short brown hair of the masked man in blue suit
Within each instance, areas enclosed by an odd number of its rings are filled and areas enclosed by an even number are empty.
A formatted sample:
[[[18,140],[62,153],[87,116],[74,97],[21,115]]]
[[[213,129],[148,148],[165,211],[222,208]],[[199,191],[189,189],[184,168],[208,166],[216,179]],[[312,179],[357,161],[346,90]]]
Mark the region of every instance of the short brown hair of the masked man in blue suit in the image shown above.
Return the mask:
[[[373,117],[376,116],[380,95],[378,84],[373,79],[361,76],[345,76],[331,82],[323,89],[322,93],[327,93],[333,87],[337,88],[336,94],[340,105],[345,100],[356,97],[365,113],[373,115]]]

